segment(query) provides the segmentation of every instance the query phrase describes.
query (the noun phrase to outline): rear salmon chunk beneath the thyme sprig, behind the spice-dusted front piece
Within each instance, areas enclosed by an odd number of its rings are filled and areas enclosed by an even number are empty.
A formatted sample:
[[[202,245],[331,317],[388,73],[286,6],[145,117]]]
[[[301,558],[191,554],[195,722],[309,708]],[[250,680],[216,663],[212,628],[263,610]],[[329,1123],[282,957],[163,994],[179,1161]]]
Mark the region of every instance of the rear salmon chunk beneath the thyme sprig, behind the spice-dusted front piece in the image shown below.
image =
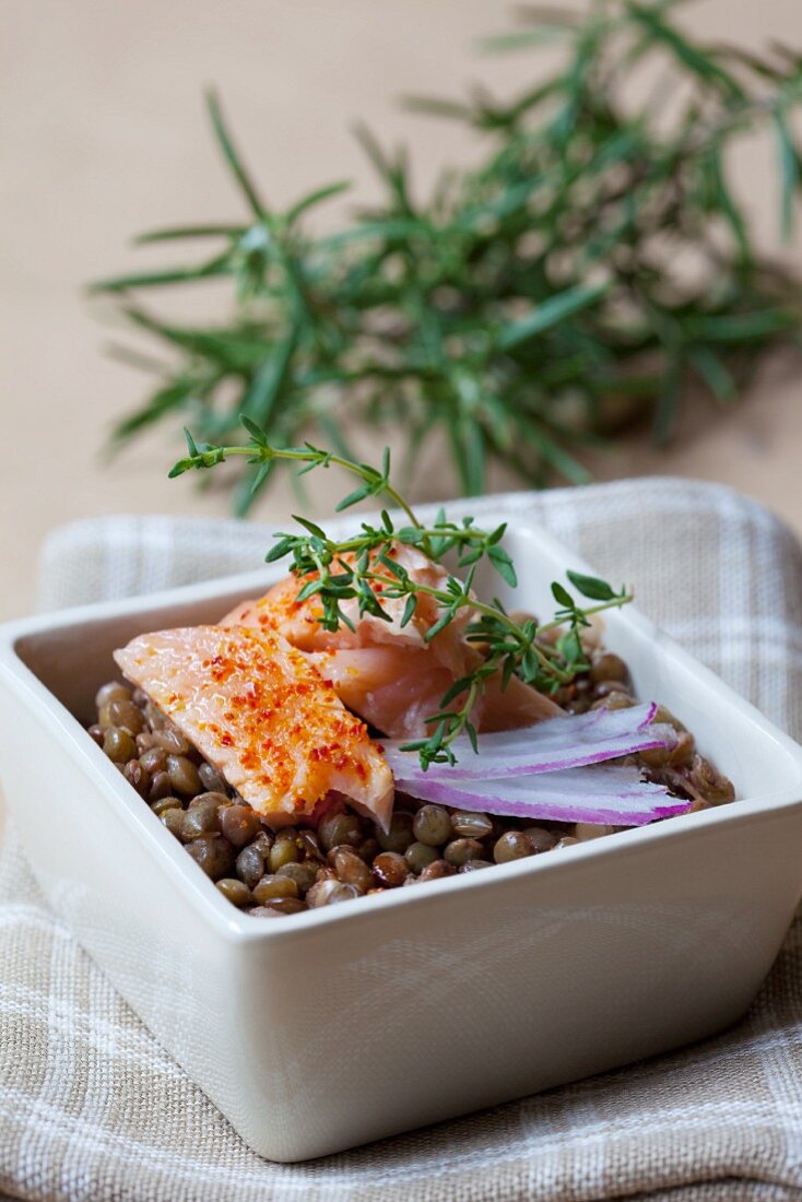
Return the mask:
[[[416,585],[444,588],[447,573],[414,547],[396,546],[393,557]],[[221,619],[221,625],[245,625],[281,633],[309,655],[332,683],[349,709],[392,738],[422,738],[432,733],[426,718],[436,713],[455,683],[480,662],[477,649],[465,638],[471,620],[463,608],[456,619],[427,642],[426,635],[440,615],[435,599],[418,594],[415,614],[402,625],[404,599],[382,600],[390,620],[360,617],[356,600],[341,605],[354,630],[335,631],[320,625],[322,607],[313,595],[298,601],[309,577],[287,576],[263,597],[244,601]],[[380,585],[379,585],[380,589]],[[381,597],[381,593],[379,591]],[[549,697],[512,678],[501,689],[501,676],[491,678],[474,709],[479,730],[498,731],[529,726],[562,713]]]

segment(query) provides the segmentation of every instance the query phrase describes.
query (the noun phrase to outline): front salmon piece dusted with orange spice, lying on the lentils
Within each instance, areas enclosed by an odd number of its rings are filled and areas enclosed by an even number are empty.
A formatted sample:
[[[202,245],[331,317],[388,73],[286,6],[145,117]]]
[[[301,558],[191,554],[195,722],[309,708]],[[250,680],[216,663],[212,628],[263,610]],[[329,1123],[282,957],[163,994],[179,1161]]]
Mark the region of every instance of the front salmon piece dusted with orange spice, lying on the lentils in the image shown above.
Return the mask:
[[[125,674],[273,826],[329,792],[386,827],[393,775],[331,683],[280,635],[190,626],[114,651]]]

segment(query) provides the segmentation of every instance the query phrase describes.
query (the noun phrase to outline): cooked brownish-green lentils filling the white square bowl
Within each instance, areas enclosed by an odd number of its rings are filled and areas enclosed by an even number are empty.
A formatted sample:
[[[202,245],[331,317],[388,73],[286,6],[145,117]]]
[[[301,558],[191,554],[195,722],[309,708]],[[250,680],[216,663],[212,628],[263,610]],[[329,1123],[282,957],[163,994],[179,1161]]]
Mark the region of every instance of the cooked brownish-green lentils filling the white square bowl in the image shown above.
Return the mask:
[[[589,671],[556,696],[566,712],[635,704],[626,665],[618,655],[596,649],[589,662]],[[299,914],[474,873],[624,829],[533,825],[421,804],[399,793],[386,834],[344,803],[333,807],[316,828],[272,831],[141,690],[111,682],[97,692],[96,706],[91,738],[222,895],[256,917]],[[676,745],[619,762],[642,767],[648,779],[665,785],[675,797],[690,799],[694,810],[731,802],[732,784],[699,755],[690,731],[664,708],[655,720],[675,728]]]

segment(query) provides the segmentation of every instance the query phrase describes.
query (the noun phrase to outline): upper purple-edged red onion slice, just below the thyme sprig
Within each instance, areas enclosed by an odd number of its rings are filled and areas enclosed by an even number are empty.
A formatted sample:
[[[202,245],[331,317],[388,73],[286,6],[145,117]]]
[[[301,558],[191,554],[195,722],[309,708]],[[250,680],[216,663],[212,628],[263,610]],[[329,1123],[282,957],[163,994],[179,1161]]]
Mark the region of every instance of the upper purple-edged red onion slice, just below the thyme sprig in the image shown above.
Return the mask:
[[[670,726],[654,722],[657,710],[655,703],[630,709],[593,709],[587,714],[549,718],[516,731],[480,734],[479,754],[467,737],[461,737],[451,744],[456,764],[433,763],[426,770],[416,751],[400,750],[403,740],[382,739],[380,745],[397,780],[426,778],[455,784],[503,780],[602,763],[652,748],[671,748],[677,737]]]

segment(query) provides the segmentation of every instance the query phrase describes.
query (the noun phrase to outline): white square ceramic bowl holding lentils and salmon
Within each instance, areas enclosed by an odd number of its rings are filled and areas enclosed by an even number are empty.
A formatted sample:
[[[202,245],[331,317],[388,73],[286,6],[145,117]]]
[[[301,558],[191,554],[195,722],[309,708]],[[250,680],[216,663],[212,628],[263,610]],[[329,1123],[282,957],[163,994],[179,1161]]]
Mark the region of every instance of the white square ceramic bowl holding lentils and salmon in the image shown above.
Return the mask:
[[[584,567],[521,518],[507,545],[518,607],[548,612],[548,583]],[[256,1152],[337,1152],[743,1013],[802,891],[802,750],[632,609],[610,614],[607,644],[739,801],[272,922],[220,897],[82,727],[113,648],[214,621],[280,572],[0,632],[0,769],[36,875]]]

